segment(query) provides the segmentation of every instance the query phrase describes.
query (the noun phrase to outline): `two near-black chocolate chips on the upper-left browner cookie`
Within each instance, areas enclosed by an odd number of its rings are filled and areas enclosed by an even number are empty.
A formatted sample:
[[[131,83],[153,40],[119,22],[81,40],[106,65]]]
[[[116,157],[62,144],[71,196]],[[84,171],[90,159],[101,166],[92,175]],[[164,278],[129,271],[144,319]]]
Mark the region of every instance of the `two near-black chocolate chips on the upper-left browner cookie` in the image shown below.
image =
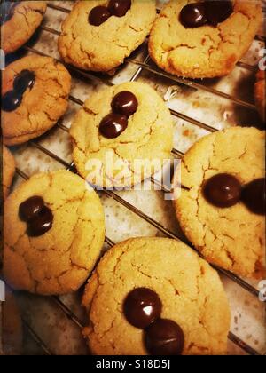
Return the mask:
[[[20,106],[23,94],[35,84],[35,73],[29,70],[22,70],[14,79],[12,91],[7,91],[2,98],[2,109],[11,112]]]

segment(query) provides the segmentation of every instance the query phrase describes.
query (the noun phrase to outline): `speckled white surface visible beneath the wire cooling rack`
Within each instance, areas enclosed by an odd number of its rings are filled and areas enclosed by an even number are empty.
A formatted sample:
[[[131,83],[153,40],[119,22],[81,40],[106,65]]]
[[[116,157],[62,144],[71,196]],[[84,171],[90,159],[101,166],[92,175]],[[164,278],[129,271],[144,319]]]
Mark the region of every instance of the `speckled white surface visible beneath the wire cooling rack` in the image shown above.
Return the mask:
[[[71,7],[67,1],[54,1],[54,4]],[[48,8],[43,24],[50,28],[60,29],[61,21],[66,17],[66,13],[58,12]],[[262,32],[261,32],[262,34]],[[45,52],[53,57],[59,58],[57,51],[57,36],[53,36],[47,31],[40,31],[35,40],[30,44],[35,49]],[[250,65],[256,65],[258,52],[262,43],[254,41],[249,52],[246,53],[243,61]],[[145,46],[134,53],[133,58],[143,60],[145,56]],[[127,63],[119,69],[112,77],[113,83],[128,81],[130,76],[137,70],[137,66]],[[165,78],[142,71],[138,76],[139,81],[152,84],[153,87],[166,99],[168,107],[191,116],[200,122],[207,123],[217,129],[240,124],[259,125],[259,117],[253,110],[238,107],[228,99],[221,99],[206,91],[195,91],[182,84],[175,83]],[[254,72],[244,68],[236,67],[231,75],[223,79],[213,79],[201,81],[209,87],[232,94],[239,99],[253,103]],[[92,91],[98,90],[101,84],[91,80],[81,80],[73,78],[71,94],[78,99],[87,99]],[[71,125],[74,113],[79,106],[70,102],[66,115],[61,119],[66,127]],[[200,130],[191,123],[175,118],[175,147],[178,150],[186,151],[192,143],[207,131]],[[46,133],[38,142],[51,150],[59,157],[71,162],[71,145],[66,131],[55,127]],[[52,160],[48,155],[43,155],[40,150],[31,145],[13,147],[12,152],[20,170],[27,175],[35,174],[38,171],[56,170],[63,166]],[[16,176],[14,186],[16,187],[22,180]],[[158,191],[128,191],[119,192],[126,201],[145,212],[150,217],[159,221],[163,226],[175,233],[179,233],[175,213],[171,202],[164,201],[164,195]],[[106,209],[106,235],[113,242],[120,242],[132,236],[153,236],[160,232],[150,224],[146,223],[136,214],[122,207],[113,199],[102,195],[102,202]],[[161,235],[161,234],[160,234]],[[236,285],[227,278],[222,278],[228,298],[231,304],[231,331],[241,337],[246,343],[253,346],[260,353],[265,353],[265,325],[264,309],[262,303]],[[253,282],[257,286],[256,282]],[[66,296],[62,300],[84,320],[84,314],[80,306],[82,290],[74,295]],[[81,336],[80,329],[66,315],[59,310],[51,298],[41,298],[25,293],[17,295],[22,313],[29,321],[37,334],[42,337],[52,353],[56,354],[85,354],[86,346]],[[41,353],[25,332],[24,353]],[[228,353],[243,353],[231,342],[228,344]]]

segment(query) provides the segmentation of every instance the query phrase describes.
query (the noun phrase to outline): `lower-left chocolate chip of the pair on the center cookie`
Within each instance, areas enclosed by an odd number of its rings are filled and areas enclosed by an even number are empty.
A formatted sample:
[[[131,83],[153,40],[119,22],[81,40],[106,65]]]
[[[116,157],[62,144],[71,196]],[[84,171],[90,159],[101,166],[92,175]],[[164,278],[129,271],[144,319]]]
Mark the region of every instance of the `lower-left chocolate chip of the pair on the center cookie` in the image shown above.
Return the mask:
[[[107,139],[115,139],[128,127],[126,115],[111,113],[101,121],[99,131]]]

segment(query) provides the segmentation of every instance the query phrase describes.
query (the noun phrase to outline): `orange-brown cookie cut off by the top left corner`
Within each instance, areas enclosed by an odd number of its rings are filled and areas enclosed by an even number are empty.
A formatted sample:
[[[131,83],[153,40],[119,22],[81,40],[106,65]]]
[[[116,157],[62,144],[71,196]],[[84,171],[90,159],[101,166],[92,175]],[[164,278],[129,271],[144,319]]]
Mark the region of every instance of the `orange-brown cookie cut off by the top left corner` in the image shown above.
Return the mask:
[[[5,53],[15,52],[27,43],[42,23],[46,7],[44,1],[1,4],[1,48]]]

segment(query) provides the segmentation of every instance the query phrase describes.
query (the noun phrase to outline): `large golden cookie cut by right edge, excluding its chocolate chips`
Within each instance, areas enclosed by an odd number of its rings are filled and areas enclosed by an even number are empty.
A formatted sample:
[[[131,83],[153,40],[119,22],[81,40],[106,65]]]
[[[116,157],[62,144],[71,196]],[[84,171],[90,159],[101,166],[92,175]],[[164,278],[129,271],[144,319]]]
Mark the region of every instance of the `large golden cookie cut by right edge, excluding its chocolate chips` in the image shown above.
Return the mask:
[[[184,234],[207,261],[236,274],[261,277],[265,217],[241,201],[227,208],[207,202],[204,186],[221,173],[237,178],[242,187],[264,178],[264,132],[233,127],[196,142],[184,155],[181,181],[175,179],[174,202]]]

